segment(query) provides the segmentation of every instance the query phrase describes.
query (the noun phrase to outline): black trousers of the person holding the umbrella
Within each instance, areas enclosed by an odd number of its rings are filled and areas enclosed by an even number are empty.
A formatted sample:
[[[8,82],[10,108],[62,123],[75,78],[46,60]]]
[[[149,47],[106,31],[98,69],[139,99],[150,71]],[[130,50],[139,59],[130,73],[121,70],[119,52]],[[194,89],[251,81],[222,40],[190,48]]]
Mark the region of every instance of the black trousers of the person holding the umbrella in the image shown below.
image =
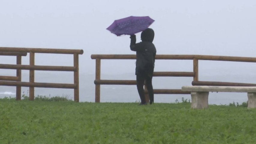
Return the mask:
[[[149,101],[150,104],[154,102],[154,91],[152,86],[152,76],[148,76],[144,73],[137,73],[136,75],[136,81],[137,81],[137,89],[140,95],[140,100],[142,104],[146,103],[145,99],[145,92],[144,92],[144,82],[146,83],[147,90],[149,92]]]

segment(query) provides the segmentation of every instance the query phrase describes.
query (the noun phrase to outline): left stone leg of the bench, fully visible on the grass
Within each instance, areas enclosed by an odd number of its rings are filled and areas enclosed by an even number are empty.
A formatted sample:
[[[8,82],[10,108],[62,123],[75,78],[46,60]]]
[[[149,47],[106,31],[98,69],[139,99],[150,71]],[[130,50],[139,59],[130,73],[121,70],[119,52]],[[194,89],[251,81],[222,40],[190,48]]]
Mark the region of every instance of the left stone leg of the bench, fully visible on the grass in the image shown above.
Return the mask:
[[[191,91],[191,108],[204,109],[208,108],[209,92],[194,92]]]

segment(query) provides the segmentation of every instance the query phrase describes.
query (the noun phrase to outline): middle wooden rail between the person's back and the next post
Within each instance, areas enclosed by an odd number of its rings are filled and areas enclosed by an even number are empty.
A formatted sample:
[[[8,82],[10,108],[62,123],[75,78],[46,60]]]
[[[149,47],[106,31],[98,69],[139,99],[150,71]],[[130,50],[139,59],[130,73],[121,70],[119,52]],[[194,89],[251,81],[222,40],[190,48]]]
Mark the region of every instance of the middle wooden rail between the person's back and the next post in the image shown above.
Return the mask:
[[[154,72],[153,76],[191,76],[195,75],[194,72]]]

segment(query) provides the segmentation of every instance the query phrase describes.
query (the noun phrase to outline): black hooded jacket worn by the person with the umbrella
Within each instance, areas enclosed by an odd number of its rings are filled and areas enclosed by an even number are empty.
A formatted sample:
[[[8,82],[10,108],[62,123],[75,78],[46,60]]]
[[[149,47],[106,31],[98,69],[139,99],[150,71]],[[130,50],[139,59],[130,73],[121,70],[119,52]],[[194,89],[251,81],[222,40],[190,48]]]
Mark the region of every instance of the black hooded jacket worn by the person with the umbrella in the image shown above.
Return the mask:
[[[136,36],[131,35],[130,48],[136,51],[136,72],[135,74],[146,74],[152,77],[155,67],[155,45],[152,43],[154,40],[154,31],[146,29],[141,33],[142,42],[136,44]]]

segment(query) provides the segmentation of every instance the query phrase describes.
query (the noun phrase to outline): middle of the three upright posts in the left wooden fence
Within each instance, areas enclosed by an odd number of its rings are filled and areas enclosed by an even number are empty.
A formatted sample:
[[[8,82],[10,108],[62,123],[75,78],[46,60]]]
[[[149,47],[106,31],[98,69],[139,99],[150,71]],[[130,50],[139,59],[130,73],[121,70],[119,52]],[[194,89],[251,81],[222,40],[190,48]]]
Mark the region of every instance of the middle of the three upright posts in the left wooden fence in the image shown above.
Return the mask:
[[[35,65],[35,52],[29,52],[29,65]],[[35,70],[29,70],[29,82],[35,82]],[[35,88],[29,87],[29,100],[34,101]]]

